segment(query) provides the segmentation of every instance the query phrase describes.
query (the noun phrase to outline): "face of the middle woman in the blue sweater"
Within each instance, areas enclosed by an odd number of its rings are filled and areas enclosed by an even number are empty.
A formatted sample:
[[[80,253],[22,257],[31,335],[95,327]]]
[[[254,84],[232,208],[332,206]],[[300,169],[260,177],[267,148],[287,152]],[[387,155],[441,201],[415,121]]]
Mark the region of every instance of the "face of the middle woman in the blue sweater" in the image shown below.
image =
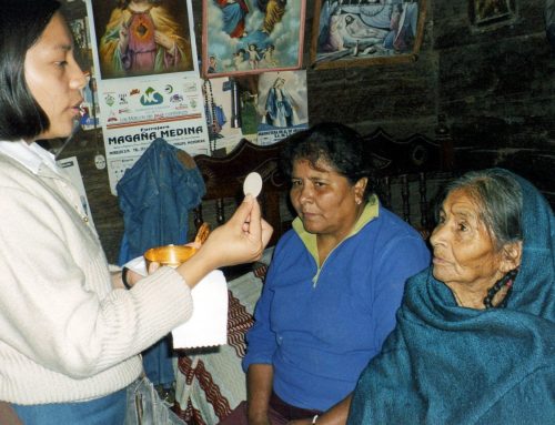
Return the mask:
[[[291,202],[307,232],[342,240],[364,208],[366,180],[352,185],[325,162],[319,161],[316,165],[314,169],[305,160],[294,162]]]

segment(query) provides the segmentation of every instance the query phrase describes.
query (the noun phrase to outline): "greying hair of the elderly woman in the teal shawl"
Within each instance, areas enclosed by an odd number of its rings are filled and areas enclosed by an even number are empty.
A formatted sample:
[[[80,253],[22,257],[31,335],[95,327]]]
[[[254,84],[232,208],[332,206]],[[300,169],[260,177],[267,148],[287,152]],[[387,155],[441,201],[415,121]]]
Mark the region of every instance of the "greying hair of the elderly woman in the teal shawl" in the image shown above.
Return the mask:
[[[443,200],[456,190],[466,191],[478,204],[480,219],[497,250],[523,240],[522,189],[508,172],[502,169],[470,171],[447,184]]]

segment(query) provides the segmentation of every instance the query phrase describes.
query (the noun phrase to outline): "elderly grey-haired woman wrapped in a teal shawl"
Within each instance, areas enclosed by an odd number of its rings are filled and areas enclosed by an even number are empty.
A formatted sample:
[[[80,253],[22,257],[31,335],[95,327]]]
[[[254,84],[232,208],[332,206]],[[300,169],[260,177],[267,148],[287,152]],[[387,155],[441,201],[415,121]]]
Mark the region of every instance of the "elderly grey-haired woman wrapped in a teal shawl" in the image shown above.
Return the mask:
[[[451,184],[349,424],[555,424],[553,211],[508,171]]]

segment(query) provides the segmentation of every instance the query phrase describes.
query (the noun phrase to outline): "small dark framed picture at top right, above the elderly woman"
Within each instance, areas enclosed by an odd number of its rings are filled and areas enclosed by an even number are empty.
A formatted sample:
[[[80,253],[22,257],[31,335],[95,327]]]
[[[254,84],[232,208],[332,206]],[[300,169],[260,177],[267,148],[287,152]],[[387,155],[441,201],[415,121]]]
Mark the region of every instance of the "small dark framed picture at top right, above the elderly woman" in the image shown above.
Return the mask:
[[[516,12],[516,0],[471,0],[468,14],[472,29],[484,31],[513,23]]]

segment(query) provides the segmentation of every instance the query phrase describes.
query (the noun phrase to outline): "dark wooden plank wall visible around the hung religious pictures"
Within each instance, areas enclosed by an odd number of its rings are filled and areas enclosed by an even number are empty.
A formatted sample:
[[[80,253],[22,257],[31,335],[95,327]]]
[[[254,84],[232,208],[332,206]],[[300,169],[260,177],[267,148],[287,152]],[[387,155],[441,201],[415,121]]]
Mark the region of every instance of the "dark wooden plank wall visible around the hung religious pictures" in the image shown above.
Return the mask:
[[[393,136],[435,136],[445,115],[463,169],[505,165],[535,182],[555,203],[555,57],[545,37],[544,0],[518,0],[511,27],[474,33],[471,0],[427,0],[424,42],[415,62],[339,70],[307,69],[310,122],[334,120],[361,132],[383,127]],[[309,65],[314,0],[307,0]],[[193,0],[201,41],[202,2]],[[103,151],[80,132],[62,156],[77,155],[94,223],[110,261],[123,232],[107,171],[94,168]]]

